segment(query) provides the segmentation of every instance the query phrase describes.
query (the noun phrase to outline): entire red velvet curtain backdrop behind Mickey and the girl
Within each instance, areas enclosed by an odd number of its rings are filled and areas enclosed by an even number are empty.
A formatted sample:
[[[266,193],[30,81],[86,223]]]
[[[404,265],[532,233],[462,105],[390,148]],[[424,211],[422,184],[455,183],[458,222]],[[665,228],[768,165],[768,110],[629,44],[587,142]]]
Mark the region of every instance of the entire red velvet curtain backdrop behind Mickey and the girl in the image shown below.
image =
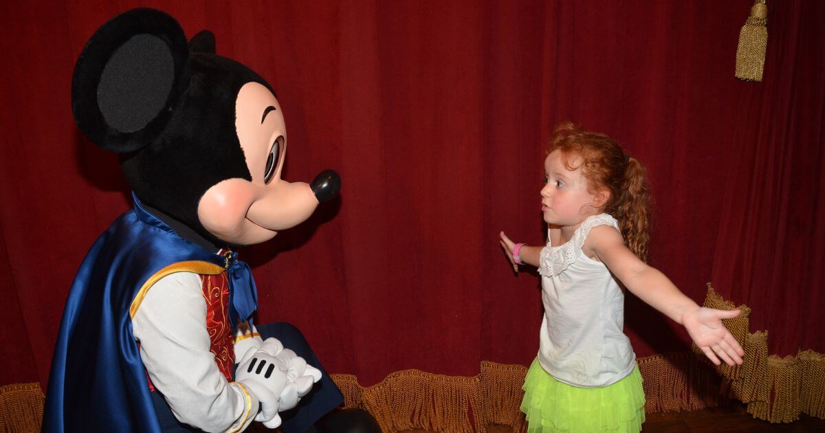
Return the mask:
[[[73,62],[135,6],[214,31],[278,92],[285,177],[332,167],[340,198],[242,252],[259,322],[300,327],[332,373],[473,375],[526,365],[539,280],[497,233],[543,242],[545,140],[559,120],[648,167],[651,262],[701,302],[753,308],[773,351],[825,351],[825,3],[771,2],[764,82],[733,78],[750,0],[731,2],[0,3],[0,384],[48,378],[87,248],[130,207],[113,155],[78,133]],[[686,335],[628,297],[639,356]]]

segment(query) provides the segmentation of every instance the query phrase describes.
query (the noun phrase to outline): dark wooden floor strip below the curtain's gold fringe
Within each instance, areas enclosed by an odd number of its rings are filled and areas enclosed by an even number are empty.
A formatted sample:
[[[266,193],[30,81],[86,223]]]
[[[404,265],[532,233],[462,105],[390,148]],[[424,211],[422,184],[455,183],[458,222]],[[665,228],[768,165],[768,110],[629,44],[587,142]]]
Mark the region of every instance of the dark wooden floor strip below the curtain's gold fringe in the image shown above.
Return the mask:
[[[681,433],[685,431],[823,431],[825,420],[800,415],[799,420],[788,424],[771,424],[754,419],[741,403],[728,407],[712,407],[695,412],[648,413],[643,431]]]

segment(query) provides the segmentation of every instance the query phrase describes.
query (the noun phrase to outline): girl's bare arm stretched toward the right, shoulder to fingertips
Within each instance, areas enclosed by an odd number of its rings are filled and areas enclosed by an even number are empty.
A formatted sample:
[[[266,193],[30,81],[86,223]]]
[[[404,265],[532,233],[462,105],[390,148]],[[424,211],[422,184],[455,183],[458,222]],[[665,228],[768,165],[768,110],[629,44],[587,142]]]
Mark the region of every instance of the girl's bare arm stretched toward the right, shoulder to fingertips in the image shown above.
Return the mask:
[[[681,293],[662,272],[630,252],[615,228],[593,228],[582,252],[601,260],[639,299],[684,326],[696,346],[715,365],[720,364],[719,358],[728,365],[742,364],[745,351],[722,324],[724,318],[737,317],[739,310],[700,307]]]

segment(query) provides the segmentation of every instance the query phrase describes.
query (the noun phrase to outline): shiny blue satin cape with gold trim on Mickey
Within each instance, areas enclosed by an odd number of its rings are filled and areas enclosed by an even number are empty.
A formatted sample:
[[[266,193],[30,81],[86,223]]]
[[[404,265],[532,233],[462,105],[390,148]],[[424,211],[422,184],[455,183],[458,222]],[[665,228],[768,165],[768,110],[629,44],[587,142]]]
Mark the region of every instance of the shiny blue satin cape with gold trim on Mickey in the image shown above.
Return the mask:
[[[180,238],[134,196],[134,209],[97,238],[68,294],[42,431],[160,431],[131,317],[163,276],[224,270],[234,327],[257,308],[249,266],[237,253],[219,256]]]

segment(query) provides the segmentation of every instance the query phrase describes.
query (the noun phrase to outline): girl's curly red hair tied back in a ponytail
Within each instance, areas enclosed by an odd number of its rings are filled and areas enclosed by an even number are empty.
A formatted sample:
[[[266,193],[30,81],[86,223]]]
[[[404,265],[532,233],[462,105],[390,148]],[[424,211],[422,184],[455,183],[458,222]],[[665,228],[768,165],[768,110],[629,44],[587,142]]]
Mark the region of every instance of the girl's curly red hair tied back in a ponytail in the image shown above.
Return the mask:
[[[548,154],[556,150],[562,153],[569,170],[582,168],[591,193],[610,191],[610,197],[599,210],[619,221],[629,250],[647,261],[650,197],[642,163],[628,158],[620,145],[607,135],[586,131],[571,122],[563,122],[554,129]],[[571,165],[573,162],[577,165]]]

